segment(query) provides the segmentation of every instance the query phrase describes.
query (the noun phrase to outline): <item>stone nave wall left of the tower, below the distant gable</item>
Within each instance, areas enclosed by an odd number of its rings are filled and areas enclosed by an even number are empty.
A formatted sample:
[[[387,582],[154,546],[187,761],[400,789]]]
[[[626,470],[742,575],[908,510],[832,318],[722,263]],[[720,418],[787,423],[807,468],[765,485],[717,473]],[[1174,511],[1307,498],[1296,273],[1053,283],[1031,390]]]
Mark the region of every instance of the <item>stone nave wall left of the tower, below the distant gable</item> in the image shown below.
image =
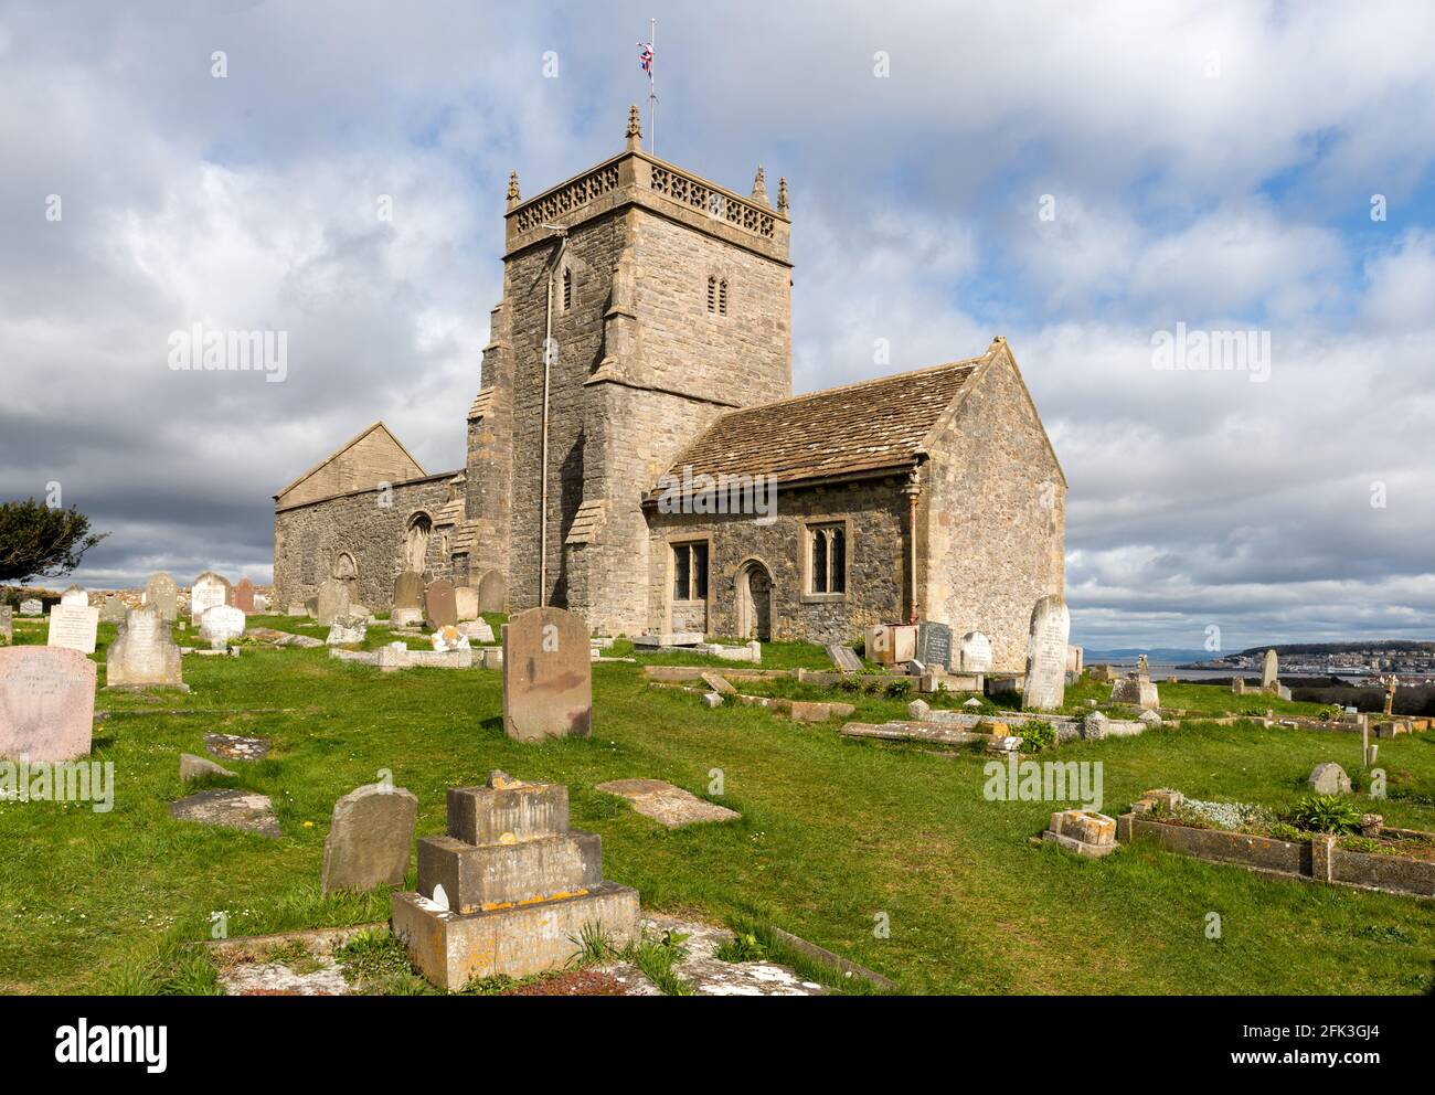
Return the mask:
[[[393,505],[380,505],[380,492],[357,491],[274,514],[274,608],[284,611],[319,593],[342,553],[353,555],[359,571],[359,603],[373,611],[393,604],[393,580],[403,568],[410,518],[435,518],[449,499],[453,472],[393,487]],[[429,537],[425,573],[451,577],[442,540]]]

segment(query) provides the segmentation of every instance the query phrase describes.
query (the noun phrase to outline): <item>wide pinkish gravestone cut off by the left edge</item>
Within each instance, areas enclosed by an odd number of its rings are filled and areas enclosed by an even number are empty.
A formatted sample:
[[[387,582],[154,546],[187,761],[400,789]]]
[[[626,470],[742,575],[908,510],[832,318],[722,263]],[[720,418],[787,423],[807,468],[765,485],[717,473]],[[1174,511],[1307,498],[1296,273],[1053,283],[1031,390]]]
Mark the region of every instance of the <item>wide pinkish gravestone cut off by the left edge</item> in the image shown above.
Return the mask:
[[[79,650],[0,647],[0,756],[73,761],[90,751],[95,663]]]

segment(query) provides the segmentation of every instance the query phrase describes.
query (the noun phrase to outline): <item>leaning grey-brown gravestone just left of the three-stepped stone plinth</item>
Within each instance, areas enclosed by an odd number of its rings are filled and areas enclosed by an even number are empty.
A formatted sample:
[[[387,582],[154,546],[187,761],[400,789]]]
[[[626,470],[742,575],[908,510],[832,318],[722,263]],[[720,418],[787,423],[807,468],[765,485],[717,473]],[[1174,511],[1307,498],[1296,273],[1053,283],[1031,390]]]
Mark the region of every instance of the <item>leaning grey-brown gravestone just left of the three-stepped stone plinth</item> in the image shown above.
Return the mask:
[[[419,799],[392,784],[367,784],[334,802],[324,841],[323,891],[403,885]]]

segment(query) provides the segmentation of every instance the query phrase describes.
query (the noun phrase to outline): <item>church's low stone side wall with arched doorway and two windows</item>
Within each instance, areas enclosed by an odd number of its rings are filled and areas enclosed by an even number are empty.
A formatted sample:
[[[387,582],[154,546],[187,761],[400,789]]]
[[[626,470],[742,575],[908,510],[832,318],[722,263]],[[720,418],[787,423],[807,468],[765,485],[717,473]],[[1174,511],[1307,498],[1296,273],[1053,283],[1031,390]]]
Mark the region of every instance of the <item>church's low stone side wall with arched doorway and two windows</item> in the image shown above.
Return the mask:
[[[752,517],[662,514],[649,509],[649,629],[739,631],[739,578],[745,564],[762,563],[772,575],[772,639],[845,643],[870,624],[904,619],[907,495],[903,481],[884,479],[799,488],[778,494],[778,517],[759,525]],[[806,524],[848,522],[847,591],[812,597],[804,588]],[[673,544],[709,541],[706,613],[693,606],[673,611]],[[699,627],[706,614],[706,627]]]

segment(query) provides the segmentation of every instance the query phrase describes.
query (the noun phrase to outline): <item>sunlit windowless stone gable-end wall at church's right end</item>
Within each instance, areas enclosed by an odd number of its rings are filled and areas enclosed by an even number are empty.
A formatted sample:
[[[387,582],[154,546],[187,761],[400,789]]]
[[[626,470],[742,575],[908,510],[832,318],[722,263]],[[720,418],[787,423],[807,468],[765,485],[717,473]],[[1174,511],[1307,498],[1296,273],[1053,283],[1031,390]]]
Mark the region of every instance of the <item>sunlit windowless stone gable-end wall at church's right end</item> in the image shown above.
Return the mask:
[[[1023,670],[1032,607],[1063,591],[1066,482],[1009,354],[967,383],[921,476],[923,617],[983,631],[994,670]]]

